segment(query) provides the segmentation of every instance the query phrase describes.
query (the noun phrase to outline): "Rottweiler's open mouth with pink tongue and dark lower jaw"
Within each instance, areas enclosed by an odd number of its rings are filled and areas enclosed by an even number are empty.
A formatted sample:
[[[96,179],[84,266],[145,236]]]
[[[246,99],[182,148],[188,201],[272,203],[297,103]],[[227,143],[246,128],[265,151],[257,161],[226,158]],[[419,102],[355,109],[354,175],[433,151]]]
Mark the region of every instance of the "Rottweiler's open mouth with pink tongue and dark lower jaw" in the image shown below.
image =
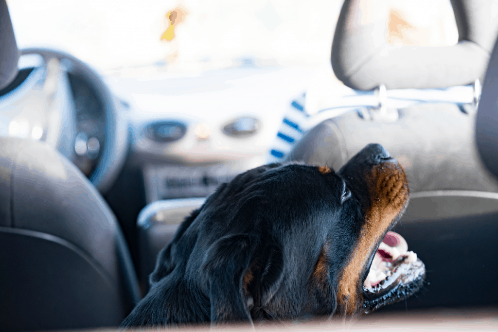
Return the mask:
[[[363,283],[365,313],[411,296],[420,289],[424,277],[424,263],[416,253],[408,251],[405,239],[396,232],[387,232]]]

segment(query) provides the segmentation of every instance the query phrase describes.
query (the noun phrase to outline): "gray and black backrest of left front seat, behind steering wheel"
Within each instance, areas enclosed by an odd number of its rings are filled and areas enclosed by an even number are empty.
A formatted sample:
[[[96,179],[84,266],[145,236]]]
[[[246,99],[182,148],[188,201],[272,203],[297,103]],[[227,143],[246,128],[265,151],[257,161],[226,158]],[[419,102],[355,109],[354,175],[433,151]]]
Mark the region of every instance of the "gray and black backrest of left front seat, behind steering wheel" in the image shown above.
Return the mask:
[[[121,228],[48,145],[0,138],[0,331],[119,326],[139,301]]]

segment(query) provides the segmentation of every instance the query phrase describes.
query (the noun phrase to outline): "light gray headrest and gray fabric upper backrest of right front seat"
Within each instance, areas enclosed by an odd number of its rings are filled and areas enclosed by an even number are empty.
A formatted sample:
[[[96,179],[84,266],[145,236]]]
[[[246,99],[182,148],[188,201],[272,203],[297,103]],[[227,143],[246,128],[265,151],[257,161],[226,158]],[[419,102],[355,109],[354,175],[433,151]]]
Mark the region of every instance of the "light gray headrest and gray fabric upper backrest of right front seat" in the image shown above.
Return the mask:
[[[460,39],[457,45],[403,46],[380,56],[385,42],[375,45],[374,41],[385,36],[375,33],[385,20],[358,26],[359,0],[346,0],[332,45],[334,73],[357,90],[380,84],[390,89],[426,89],[472,83],[484,76],[497,37],[498,16],[491,13],[492,3],[452,1]],[[469,43],[479,49],[477,53],[460,56],[459,49]],[[399,157],[412,193],[453,189],[498,192],[496,178],[478,153],[474,106],[426,104],[397,111],[400,116],[394,122],[360,117],[356,111],[324,121],[296,144],[287,160],[327,164],[338,170],[363,146],[375,142]]]

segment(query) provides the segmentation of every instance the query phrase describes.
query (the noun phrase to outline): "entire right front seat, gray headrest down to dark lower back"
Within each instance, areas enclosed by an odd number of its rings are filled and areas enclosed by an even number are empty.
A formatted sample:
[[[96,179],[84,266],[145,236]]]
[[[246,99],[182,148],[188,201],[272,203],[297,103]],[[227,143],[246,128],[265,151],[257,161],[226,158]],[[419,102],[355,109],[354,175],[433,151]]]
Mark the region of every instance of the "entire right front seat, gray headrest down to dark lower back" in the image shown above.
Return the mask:
[[[376,25],[385,20],[359,27],[359,0],[346,0],[332,46],[334,73],[362,91],[380,85],[439,89],[470,84],[484,76],[497,38],[492,2],[452,1],[460,40],[456,45],[395,48],[374,45],[375,39],[385,38],[375,36]],[[495,85],[495,110],[498,90],[492,78],[498,72],[492,73],[493,64],[479,110],[475,104],[424,104],[393,110],[394,121],[374,109],[349,111],[308,131],[286,159],[339,170],[375,142],[404,167],[410,203],[396,231],[425,263],[427,283],[416,297],[385,310],[497,303],[498,291],[491,285],[498,269],[490,262],[498,252],[498,126],[486,96]]]

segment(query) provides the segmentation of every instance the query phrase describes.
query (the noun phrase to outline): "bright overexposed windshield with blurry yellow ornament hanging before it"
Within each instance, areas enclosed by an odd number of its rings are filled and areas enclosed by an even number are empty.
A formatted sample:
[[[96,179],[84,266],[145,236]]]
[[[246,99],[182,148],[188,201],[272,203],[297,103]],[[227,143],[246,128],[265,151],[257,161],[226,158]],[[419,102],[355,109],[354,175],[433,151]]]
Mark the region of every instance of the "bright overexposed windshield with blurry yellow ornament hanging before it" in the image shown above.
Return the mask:
[[[449,0],[362,1],[390,44],[458,41]],[[66,51],[113,76],[237,66],[330,67],[342,1],[7,1],[19,48]],[[386,11],[387,8],[387,11]],[[366,22],[361,22],[366,23]]]

